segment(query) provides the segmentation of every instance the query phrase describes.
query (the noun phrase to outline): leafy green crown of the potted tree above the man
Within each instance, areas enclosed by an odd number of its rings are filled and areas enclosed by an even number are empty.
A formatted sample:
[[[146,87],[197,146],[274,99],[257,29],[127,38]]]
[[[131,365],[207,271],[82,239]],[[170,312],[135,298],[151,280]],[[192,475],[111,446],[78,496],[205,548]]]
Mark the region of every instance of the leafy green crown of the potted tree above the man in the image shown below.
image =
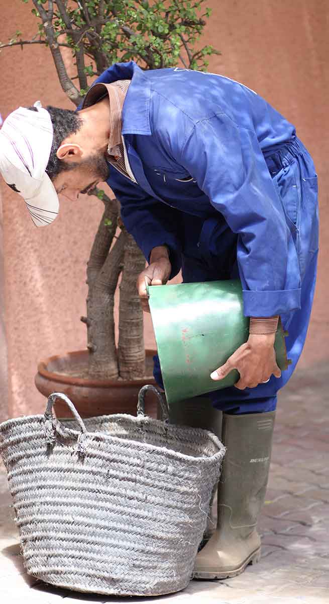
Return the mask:
[[[22,0],[28,2],[28,0]],[[206,0],[32,0],[39,31],[22,40],[20,31],[8,44],[43,43],[49,46],[61,86],[74,101],[89,88],[89,77],[99,76],[108,65],[136,60],[143,69],[181,63],[204,71],[208,57],[219,54],[210,45],[199,47]],[[72,50],[79,85],[67,76],[61,48]]]

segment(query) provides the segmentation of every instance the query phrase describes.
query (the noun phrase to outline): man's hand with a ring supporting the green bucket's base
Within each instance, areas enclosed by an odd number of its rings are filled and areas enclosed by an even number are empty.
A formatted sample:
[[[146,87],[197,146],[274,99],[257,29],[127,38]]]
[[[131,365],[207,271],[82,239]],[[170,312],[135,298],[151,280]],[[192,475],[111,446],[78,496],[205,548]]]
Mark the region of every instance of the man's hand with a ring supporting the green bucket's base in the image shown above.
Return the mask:
[[[210,377],[213,380],[221,380],[232,369],[237,369],[240,379],[235,386],[239,390],[255,388],[262,382],[268,382],[272,373],[275,377],[280,377],[281,371],[275,359],[274,341],[275,333],[249,335],[248,342],[242,344],[222,367],[210,374]]]

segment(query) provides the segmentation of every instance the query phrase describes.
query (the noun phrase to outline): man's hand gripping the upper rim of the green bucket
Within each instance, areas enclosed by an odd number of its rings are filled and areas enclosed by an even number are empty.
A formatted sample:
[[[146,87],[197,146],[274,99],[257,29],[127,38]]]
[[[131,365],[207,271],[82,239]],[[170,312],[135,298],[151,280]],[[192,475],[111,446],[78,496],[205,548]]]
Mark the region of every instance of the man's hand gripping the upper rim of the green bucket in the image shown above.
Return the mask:
[[[140,304],[142,304],[142,309],[145,312],[149,312],[145,278],[148,285],[163,285],[164,283],[167,283],[170,274],[171,263],[169,260],[168,248],[166,248],[165,245],[159,245],[157,248],[153,248],[149,259],[149,265],[140,273],[137,279]]]

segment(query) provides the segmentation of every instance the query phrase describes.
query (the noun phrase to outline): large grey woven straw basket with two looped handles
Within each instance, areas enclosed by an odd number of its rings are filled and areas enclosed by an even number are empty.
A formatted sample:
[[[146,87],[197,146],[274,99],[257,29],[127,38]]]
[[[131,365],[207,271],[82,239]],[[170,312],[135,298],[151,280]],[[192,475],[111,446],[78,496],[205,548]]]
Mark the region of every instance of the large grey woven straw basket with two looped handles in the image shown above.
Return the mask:
[[[155,596],[184,589],[225,448],[215,434],[144,414],[81,420],[64,394],[0,425],[28,573],[70,590]],[[159,394],[159,393],[157,393]],[[160,396],[160,395],[159,395]],[[56,397],[75,420],[52,416]],[[69,427],[68,427],[69,426]]]

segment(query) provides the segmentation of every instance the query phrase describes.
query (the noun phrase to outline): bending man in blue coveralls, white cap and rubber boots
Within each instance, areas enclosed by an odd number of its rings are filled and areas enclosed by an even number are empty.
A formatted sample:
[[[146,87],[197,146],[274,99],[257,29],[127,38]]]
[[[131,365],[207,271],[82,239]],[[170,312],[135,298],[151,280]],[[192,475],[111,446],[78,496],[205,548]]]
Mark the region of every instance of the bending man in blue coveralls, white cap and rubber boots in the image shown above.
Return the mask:
[[[31,111],[33,109],[33,111]],[[227,446],[218,527],[201,549],[198,578],[242,572],[260,556],[257,518],[271,457],[277,391],[304,345],[318,252],[317,179],[295,128],[254,91],[187,69],[143,72],[117,63],[77,113],[17,109],[2,127],[0,169],[34,223],[51,222],[57,193],[70,199],[107,181],[148,267],[149,284],[240,278],[250,335],[211,377],[233,368],[235,387],[211,394]],[[278,316],[292,363],[275,362]],[[161,384],[160,367],[155,375]],[[186,422],[188,423],[188,422]]]

